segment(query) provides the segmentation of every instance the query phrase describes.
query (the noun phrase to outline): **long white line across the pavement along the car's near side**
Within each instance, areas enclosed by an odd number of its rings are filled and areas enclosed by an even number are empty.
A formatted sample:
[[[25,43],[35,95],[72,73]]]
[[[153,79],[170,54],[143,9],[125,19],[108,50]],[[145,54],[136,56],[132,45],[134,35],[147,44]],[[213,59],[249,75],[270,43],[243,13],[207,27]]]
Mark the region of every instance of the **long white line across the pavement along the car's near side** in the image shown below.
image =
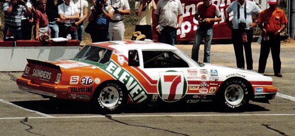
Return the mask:
[[[295,116],[295,114],[162,114],[162,115],[109,115],[112,117],[203,117],[203,116]],[[6,117],[0,118],[0,120],[8,119],[47,119],[47,118],[103,118],[105,115],[93,115],[93,116],[60,116],[60,117]]]

